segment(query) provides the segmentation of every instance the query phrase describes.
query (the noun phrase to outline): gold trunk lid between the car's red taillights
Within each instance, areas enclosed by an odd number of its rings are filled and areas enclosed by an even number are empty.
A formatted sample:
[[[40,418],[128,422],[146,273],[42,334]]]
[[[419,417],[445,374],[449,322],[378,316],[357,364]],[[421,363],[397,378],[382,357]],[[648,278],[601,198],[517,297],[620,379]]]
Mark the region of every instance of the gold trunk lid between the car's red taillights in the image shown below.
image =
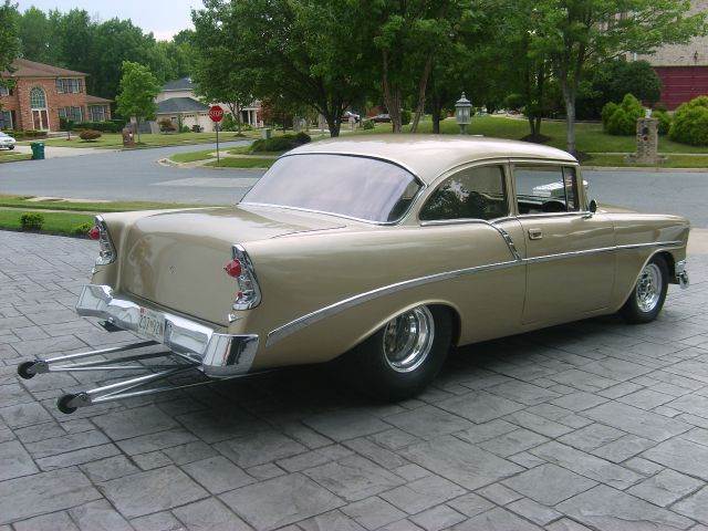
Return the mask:
[[[139,218],[118,250],[119,290],[166,309],[228,325],[236,292],[223,271],[235,243],[344,227],[335,218],[251,207],[162,212]],[[256,274],[258,260],[253,259]]]

